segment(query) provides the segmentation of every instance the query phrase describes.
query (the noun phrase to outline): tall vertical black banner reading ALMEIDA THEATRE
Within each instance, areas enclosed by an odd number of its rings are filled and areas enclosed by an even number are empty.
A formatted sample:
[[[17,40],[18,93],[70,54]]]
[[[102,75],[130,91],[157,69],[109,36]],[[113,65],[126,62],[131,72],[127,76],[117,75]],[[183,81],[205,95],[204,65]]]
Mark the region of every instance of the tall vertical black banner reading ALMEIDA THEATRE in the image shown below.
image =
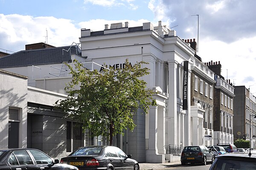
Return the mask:
[[[183,102],[182,109],[188,109],[188,70],[189,70],[189,61],[184,61],[183,63]]]

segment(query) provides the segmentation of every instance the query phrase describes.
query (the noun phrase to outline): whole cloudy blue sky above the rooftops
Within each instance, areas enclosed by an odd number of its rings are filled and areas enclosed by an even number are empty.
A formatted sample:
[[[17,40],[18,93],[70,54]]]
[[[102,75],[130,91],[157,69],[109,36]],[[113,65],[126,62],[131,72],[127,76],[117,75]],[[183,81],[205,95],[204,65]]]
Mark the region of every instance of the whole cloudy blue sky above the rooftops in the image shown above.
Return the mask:
[[[81,29],[161,20],[181,39],[195,38],[203,63],[220,61],[225,79],[256,95],[255,7],[256,0],[0,0],[0,51],[40,42],[70,46]]]

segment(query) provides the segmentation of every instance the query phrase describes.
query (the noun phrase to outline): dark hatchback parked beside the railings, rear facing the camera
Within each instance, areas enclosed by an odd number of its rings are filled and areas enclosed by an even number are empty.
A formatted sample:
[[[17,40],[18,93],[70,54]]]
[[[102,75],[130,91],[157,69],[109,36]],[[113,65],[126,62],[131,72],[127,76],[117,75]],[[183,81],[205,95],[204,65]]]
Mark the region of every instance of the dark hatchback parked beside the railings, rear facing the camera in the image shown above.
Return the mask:
[[[180,161],[182,165],[186,163],[206,165],[207,162],[212,163],[214,158],[214,154],[206,146],[187,146],[182,150]]]

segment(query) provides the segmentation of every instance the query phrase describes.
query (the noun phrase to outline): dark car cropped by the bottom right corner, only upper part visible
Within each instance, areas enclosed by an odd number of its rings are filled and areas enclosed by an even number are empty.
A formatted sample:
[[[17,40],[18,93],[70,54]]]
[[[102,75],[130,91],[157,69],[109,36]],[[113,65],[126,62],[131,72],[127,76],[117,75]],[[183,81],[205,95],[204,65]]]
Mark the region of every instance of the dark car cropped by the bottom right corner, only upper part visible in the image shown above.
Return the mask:
[[[226,153],[215,158],[209,170],[255,170],[256,155],[248,153]]]

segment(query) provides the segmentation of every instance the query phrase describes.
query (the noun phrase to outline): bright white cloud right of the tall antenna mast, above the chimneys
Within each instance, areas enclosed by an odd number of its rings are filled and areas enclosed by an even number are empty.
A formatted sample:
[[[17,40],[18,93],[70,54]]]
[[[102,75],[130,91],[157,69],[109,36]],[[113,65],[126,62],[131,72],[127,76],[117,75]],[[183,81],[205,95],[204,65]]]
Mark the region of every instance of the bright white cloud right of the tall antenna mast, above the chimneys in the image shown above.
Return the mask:
[[[198,55],[203,63],[220,61],[221,75],[230,79],[236,86],[250,86],[255,84],[254,70],[256,57],[256,37],[243,38],[233,43],[224,43],[220,40],[204,38],[199,40]],[[255,86],[256,92],[256,86]]]

